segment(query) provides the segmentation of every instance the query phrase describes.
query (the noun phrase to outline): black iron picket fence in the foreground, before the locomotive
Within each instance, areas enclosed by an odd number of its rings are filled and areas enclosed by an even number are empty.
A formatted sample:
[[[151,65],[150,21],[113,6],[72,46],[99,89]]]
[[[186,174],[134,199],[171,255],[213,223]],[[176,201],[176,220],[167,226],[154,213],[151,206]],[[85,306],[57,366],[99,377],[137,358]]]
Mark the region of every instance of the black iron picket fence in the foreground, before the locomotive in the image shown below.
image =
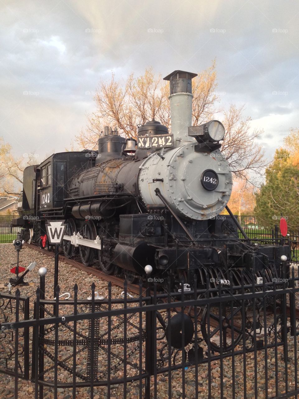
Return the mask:
[[[29,368],[35,398],[49,391],[54,398],[83,391],[90,398],[297,397],[298,268],[289,275],[284,264],[279,276],[262,273],[258,282],[243,271],[239,285],[233,273],[206,272],[201,289],[181,292],[161,294],[157,283],[140,281],[139,295],[130,296],[125,282],[124,298],[112,298],[111,283],[105,298],[92,284],[86,300],[77,285],[69,300],[59,299],[58,286],[55,300],[38,288],[31,319],[18,290],[1,295],[0,371],[14,374],[15,398]]]

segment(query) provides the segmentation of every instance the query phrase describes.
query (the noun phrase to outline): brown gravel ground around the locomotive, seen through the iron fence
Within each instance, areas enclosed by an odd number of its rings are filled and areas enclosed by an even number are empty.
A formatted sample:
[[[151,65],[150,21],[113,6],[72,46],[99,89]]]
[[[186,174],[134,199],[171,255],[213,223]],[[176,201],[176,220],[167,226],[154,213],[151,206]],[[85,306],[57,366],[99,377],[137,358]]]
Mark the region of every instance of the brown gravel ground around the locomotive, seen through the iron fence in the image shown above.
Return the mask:
[[[47,267],[48,273],[46,276],[46,289],[45,289],[45,296],[47,299],[53,298],[53,277],[54,277],[54,259],[51,257],[47,257],[37,251],[29,249],[25,247],[22,249],[20,253],[20,265],[28,266],[30,261],[35,260],[37,262],[37,267],[28,274],[27,281],[30,282],[29,286],[22,286],[20,287],[21,294],[24,296],[31,296],[30,299],[30,315],[33,317],[33,300],[35,297],[35,290],[39,285],[39,276],[37,271],[39,267]],[[12,276],[10,273],[10,268],[16,262],[16,252],[14,251],[12,244],[3,244],[0,245],[0,291],[3,293],[8,292],[8,288],[4,286],[5,282],[8,282],[8,279]],[[96,290],[99,292],[100,295],[105,297],[108,296],[108,288],[107,282],[105,280],[98,279],[92,275],[87,275],[86,273],[81,272],[79,269],[76,269],[70,265],[60,262],[59,263],[59,286],[61,287],[61,292],[70,292],[72,294],[72,286],[75,282],[78,284],[78,298],[79,299],[86,299],[87,296],[91,295],[90,284],[94,282],[96,284]],[[12,289],[12,293],[14,294],[15,288]],[[117,286],[112,286],[112,297],[119,298],[122,292],[122,288]],[[72,294],[73,297],[73,294]],[[46,309],[51,313],[53,308],[46,307]],[[67,308],[61,308],[59,311],[60,314],[63,314],[63,310],[65,313],[70,313],[67,311]],[[88,311],[88,309],[81,307],[80,311]],[[165,314],[163,314],[165,316]],[[103,338],[106,338],[106,320],[101,319],[99,330],[100,334]],[[119,319],[112,319],[112,326],[117,326],[120,322]],[[130,322],[132,324],[128,324],[128,336],[138,334],[138,329],[135,326],[139,324],[139,316],[133,315],[130,318]],[[144,327],[144,320],[142,320],[142,324]],[[72,326],[72,324],[69,324]],[[78,330],[83,336],[87,336],[88,334],[88,321],[81,322],[78,324]],[[52,335],[51,335],[52,334]],[[114,334],[114,335],[113,335]],[[112,338],[121,338],[123,335],[122,326],[119,329],[113,330]],[[200,336],[200,334],[199,334]],[[53,339],[53,332],[50,332],[47,335],[47,338]],[[80,338],[80,337],[79,337]],[[69,331],[67,328],[59,328],[59,339],[72,339],[72,332]],[[157,341],[157,349],[161,349],[163,344],[165,344],[165,339]],[[201,344],[203,346],[203,343]],[[294,389],[294,341],[292,337],[288,339],[288,347],[289,347],[289,363],[287,365],[289,378],[288,378],[288,389]],[[297,340],[297,346],[299,348],[299,340]],[[128,344],[128,353],[131,350],[136,348],[136,343]],[[53,348],[49,348],[45,346],[45,349],[52,350]],[[67,355],[72,354],[70,352],[71,347],[59,347],[59,356],[63,359]],[[142,346],[143,352],[143,367],[144,367],[144,349],[145,346]],[[187,350],[189,347],[187,347]],[[204,351],[207,348],[204,346]],[[236,348],[237,350],[238,348]],[[114,351],[122,353],[123,348],[121,346],[116,345]],[[77,355],[77,372],[82,372],[83,374],[86,373],[86,364],[87,364],[87,351],[81,352]],[[178,361],[179,361],[179,356]],[[285,391],[285,363],[281,360],[283,356],[283,348],[279,347],[277,350],[277,358],[278,358],[278,380],[279,380],[279,393],[284,393]],[[298,357],[298,355],[297,355]],[[132,363],[139,362],[139,351],[137,350],[128,358],[128,361]],[[112,359],[112,367],[111,367],[111,374],[114,377],[122,377],[122,371],[120,369],[114,368],[113,366],[116,365],[117,359]],[[49,359],[45,359],[45,368],[51,367],[53,363],[49,361]],[[259,399],[266,397],[266,381],[265,381],[265,366],[267,364],[268,367],[268,395],[269,397],[275,396],[275,358],[273,350],[268,351],[268,361],[265,363],[265,354],[264,351],[258,352],[257,356],[257,375],[258,375],[258,391],[257,397]],[[72,365],[72,359],[69,361],[68,365]],[[222,361],[223,366],[223,378],[222,383],[224,387],[224,397],[229,399],[232,398],[232,358],[223,359]],[[236,389],[236,398],[242,399],[244,398],[243,393],[243,359],[242,356],[236,356],[235,358],[235,389]],[[99,374],[106,372],[106,357],[104,352],[100,352],[99,354]],[[218,399],[220,398],[220,361],[212,361],[211,363],[211,377],[212,377],[212,398]],[[136,374],[136,370],[130,364],[128,364],[127,375],[134,375]],[[202,363],[198,366],[198,375],[199,375],[199,397],[207,398],[208,392],[208,364]],[[47,374],[45,374],[46,378],[53,378],[53,370],[49,370]],[[59,379],[61,381],[72,381],[72,376],[69,375],[65,370],[59,369]],[[252,398],[254,397],[254,355],[247,354],[246,356],[246,379],[247,379],[247,397]],[[153,396],[153,387],[154,387],[154,377],[151,377],[151,386],[152,386],[152,397]],[[173,371],[172,373],[172,398],[181,398],[182,397],[182,371]],[[33,398],[34,397],[34,385],[30,381],[23,381],[19,380],[19,390],[18,390],[19,398]],[[69,399],[72,396],[72,391],[70,389],[59,389],[58,390],[58,397]],[[82,388],[77,390],[76,397],[79,399],[88,398],[90,397],[90,387]],[[111,398],[117,399],[119,397],[123,397],[123,387],[122,385],[116,386],[111,390]],[[14,380],[12,377],[6,376],[4,374],[0,374],[0,397],[1,398],[10,398],[14,397]],[[44,388],[44,397],[45,398],[53,398],[53,391],[47,387]],[[127,387],[127,397],[130,399],[137,399],[139,398],[138,394],[138,382],[128,384]],[[195,368],[189,367],[185,370],[185,397],[188,399],[195,398]],[[95,399],[102,399],[107,398],[106,388],[99,387],[94,388],[94,398]],[[157,376],[157,398],[164,399],[168,398],[168,375],[165,373],[164,375]]]

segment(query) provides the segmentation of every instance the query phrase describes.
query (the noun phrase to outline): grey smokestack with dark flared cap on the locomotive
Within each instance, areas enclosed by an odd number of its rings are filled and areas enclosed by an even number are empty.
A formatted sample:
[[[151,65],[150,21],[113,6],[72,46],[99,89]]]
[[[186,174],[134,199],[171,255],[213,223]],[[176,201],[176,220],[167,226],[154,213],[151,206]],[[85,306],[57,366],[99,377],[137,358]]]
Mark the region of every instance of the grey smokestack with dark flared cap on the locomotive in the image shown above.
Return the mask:
[[[192,126],[192,79],[197,73],[173,71],[164,80],[169,80],[171,133],[177,147],[182,141],[194,141],[188,136],[188,127]]]

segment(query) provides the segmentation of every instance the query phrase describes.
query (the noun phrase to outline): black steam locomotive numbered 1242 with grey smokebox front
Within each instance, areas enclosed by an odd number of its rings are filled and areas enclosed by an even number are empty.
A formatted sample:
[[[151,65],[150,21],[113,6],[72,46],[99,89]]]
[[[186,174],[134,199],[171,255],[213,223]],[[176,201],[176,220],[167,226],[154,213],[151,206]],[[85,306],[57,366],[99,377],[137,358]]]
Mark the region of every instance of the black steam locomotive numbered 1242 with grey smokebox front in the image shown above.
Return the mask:
[[[23,238],[49,247],[45,224],[65,220],[65,256],[107,275],[123,270],[130,282],[146,265],[173,287],[182,278],[192,285],[194,274],[199,284],[205,273],[216,281],[232,272],[235,282],[242,270],[275,274],[289,247],[253,243],[227,207],[225,130],[218,120],[192,126],[195,76],[177,70],[164,78],[171,133],[156,120],[138,128],[137,140],[105,126],[98,151],[60,152],[28,166],[13,220]],[[225,207],[229,215],[220,215]]]

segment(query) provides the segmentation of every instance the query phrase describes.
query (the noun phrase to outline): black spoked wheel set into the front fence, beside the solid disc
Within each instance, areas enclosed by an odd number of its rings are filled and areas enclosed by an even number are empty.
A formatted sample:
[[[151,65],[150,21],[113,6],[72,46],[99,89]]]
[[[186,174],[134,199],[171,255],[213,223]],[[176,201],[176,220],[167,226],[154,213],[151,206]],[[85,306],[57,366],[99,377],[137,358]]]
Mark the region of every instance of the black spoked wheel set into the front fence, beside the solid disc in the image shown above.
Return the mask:
[[[218,306],[211,306],[210,312],[207,311],[207,308],[204,310],[201,319],[201,333],[207,344],[210,341],[211,350],[220,352],[220,323],[222,325],[222,351],[230,352],[233,347],[238,345],[242,338],[242,328],[237,321],[237,319],[242,320],[241,312],[240,303],[236,304],[233,313],[231,313],[230,304],[224,304],[220,320]],[[210,319],[210,334],[208,334],[208,318]],[[234,337],[232,336],[232,319],[234,321]]]

